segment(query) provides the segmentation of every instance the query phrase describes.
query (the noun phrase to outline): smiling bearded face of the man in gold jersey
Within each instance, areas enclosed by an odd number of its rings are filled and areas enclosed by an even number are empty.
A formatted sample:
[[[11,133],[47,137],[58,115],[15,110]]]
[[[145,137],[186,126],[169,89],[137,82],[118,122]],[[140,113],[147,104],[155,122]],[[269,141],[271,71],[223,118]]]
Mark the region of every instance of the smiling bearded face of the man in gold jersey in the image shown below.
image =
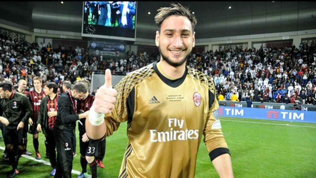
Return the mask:
[[[195,46],[195,32],[192,32],[190,20],[185,16],[167,17],[161,24],[160,33],[156,32],[155,42],[161,60],[173,67],[181,66]]]

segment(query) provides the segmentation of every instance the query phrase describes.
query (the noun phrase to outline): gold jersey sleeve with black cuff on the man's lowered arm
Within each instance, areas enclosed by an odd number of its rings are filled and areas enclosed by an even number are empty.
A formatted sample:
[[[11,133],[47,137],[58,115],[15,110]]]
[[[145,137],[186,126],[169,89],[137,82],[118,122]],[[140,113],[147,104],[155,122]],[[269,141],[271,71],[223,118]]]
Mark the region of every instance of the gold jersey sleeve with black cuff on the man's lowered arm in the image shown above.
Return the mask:
[[[222,133],[222,126],[217,113],[219,104],[216,99],[214,84],[211,81],[209,81],[209,108],[203,134],[204,143],[210,159],[213,161],[217,156],[230,153]]]

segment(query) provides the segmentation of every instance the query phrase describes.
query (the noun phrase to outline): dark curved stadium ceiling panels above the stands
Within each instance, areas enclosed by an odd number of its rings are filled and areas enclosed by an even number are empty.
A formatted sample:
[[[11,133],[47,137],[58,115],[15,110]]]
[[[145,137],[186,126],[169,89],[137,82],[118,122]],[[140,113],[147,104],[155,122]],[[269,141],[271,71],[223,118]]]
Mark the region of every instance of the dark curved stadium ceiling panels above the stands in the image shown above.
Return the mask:
[[[137,38],[154,36],[156,10],[169,3],[138,2]],[[316,3],[313,1],[175,3],[190,6],[191,12],[195,12],[197,38],[316,29]],[[0,2],[1,19],[28,30],[81,32],[82,2]]]

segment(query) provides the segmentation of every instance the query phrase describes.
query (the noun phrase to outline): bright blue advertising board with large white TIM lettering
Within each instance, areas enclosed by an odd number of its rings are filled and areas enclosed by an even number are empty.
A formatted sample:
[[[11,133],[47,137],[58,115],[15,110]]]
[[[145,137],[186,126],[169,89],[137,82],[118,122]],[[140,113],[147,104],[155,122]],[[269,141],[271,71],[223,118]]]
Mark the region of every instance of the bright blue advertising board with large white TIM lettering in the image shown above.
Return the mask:
[[[252,118],[275,121],[292,121],[316,123],[314,111],[297,111],[297,110],[277,110],[277,109],[260,109],[260,108],[236,108],[229,106],[220,106],[218,115],[221,117],[233,118]]]

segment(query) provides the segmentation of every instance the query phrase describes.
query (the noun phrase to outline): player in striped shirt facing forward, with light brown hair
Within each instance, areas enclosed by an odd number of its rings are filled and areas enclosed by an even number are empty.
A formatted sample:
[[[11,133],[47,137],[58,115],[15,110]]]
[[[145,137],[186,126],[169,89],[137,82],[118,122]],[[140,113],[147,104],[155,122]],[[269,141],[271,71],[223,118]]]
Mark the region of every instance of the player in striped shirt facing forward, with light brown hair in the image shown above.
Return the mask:
[[[33,146],[36,152],[36,159],[41,159],[39,152],[39,141],[38,141],[38,131],[36,130],[36,122],[39,115],[40,103],[45,97],[45,93],[42,90],[42,79],[40,77],[33,78],[34,90],[28,93],[28,98],[30,99],[31,105],[33,106],[33,115],[31,120],[29,120],[30,129],[28,133],[33,134]],[[33,124],[34,123],[34,124]]]

